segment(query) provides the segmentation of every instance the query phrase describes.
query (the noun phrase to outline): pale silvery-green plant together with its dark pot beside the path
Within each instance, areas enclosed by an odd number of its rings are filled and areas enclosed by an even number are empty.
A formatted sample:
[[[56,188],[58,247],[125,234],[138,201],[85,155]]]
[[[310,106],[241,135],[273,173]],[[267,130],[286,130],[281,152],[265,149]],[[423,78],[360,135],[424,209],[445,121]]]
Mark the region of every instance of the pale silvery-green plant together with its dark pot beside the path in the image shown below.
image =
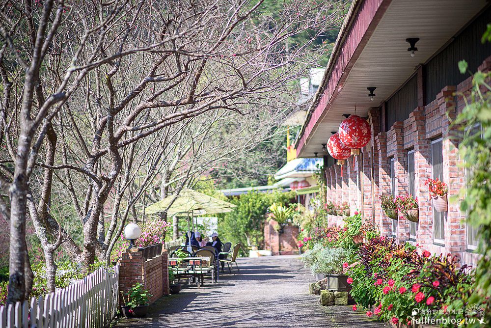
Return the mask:
[[[325,279],[326,289],[333,291],[349,291],[348,276],[343,274],[343,263],[348,259],[349,253],[343,248],[324,247],[316,244],[306,251],[301,258],[305,266],[317,280]]]

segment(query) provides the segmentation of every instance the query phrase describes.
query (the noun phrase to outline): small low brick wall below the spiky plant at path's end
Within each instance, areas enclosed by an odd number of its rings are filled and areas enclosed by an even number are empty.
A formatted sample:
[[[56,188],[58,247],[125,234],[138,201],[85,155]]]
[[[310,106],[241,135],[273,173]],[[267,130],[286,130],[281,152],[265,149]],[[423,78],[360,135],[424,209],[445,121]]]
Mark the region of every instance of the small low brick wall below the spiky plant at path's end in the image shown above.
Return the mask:
[[[299,253],[299,228],[287,225],[283,228],[283,233],[274,229],[278,223],[274,220],[266,222],[264,226],[264,248],[271,250],[273,255],[292,255]]]

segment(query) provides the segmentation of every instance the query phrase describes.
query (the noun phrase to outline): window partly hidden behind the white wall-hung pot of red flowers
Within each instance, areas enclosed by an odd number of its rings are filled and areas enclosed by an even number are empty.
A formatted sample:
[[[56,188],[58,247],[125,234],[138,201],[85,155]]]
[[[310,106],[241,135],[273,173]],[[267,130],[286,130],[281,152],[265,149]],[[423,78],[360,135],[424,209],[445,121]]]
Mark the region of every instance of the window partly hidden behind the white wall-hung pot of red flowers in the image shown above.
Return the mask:
[[[443,180],[443,139],[439,138],[431,142],[431,163],[433,179]],[[446,212],[437,212],[433,208],[433,242],[444,244],[445,240]]]

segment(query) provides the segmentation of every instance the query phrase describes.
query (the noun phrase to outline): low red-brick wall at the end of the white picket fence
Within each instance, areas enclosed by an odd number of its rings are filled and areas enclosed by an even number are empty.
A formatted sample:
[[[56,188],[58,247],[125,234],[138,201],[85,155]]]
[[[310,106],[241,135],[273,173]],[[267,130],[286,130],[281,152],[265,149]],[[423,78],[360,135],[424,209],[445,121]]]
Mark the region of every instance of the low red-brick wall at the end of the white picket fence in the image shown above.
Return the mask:
[[[124,305],[121,292],[128,293],[137,282],[143,283],[144,289],[152,294],[150,303],[169,295],[167,250],[164,249],[162,255],[150,260],[145,260],[141,251],[124,252],[118,263],[120,305]]]

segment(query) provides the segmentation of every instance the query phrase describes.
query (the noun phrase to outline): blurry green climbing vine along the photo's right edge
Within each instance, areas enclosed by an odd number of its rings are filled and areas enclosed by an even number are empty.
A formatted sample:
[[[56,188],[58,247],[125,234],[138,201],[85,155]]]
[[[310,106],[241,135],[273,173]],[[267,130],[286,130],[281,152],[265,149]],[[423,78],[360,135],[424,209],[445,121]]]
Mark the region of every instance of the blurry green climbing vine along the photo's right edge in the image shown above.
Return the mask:
[[[491,26],[483,35],[483,41],[491,40]],[[462,67],[461,67],[462,66]],[[461,72],[466,63],[459,63]],[[465,95],[466,106],[453,122],[453,128],[461,131],[460,157],[464,160],[466,189],[461,190],[461,209],[467,212],[466,223],[478,231],[483,254],[476,267],[475,285],[470,303],[480,303],[484,296],[491,295],[491,87],[490,72],[476,72],[472,78],[470,96]],[[452,199],[451,199],[452,200]],[[485,321],[491,322],[491,301],[488,298]]]

